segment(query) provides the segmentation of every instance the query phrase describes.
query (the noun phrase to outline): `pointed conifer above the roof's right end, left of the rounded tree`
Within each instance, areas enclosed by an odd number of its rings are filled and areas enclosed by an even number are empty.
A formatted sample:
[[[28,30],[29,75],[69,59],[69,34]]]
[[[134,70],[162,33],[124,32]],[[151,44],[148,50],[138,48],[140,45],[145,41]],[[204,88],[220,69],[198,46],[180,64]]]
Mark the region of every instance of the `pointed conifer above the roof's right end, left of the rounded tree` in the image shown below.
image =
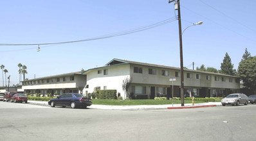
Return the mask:
[[[228,53],[226,53],[226,55],[224,56],[223,63],[221,63],[221,70],[219,70],[219,72],[232,76],[235,75],[235,69],[233,69],[233,64]]]

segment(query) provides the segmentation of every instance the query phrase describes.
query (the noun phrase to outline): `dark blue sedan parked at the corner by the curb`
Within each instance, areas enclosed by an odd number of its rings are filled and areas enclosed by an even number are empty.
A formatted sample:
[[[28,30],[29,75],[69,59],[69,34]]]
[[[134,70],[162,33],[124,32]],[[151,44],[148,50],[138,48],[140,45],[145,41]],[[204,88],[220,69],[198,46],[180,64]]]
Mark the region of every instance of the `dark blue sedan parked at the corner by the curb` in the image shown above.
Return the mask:
[[[67,93],[62,94],[55,99],[50,99],[48,104],[50,104],[51,107],[62,106],[65,108],[66,106],[71,106],[71,108],[86,108],[87,106],[91,106],[92,103],[89,97],[84,97],[82,94]]]

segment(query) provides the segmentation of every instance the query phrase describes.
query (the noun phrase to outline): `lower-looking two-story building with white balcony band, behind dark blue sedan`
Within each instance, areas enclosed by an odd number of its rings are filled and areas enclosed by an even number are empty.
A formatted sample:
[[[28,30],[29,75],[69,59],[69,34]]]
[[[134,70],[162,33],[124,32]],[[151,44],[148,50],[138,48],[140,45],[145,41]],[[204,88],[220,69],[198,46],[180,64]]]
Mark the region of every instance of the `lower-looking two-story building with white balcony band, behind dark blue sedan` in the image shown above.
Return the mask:
[[[67,92],[82,93],[86,85],[86,75],[82,72],[71,72],[35,78],[23,81],[24,93],[31,94],[64,94]]]

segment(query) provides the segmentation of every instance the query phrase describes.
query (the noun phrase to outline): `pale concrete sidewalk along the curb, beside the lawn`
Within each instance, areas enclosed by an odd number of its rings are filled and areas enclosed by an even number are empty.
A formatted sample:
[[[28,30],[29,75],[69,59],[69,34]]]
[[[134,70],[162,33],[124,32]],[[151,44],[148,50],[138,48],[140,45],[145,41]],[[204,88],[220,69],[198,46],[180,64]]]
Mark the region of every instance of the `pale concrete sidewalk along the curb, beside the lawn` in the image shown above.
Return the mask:
[[[48,105],[48,101],[28,101],[30,104],[37,104],[42,106],[50,106]],[[113,106],[113,105],[101,105],[101,104],[92,104],[88,106],[89,109],[103,109],[103,110],[145,110],[145,109],[185,109],[185,108],[205,108],[205,107],[213,107],[213,106],[221,106],[220,102],[209,102],[209,103],[195,103],[192,106],[192,103],[185,104],[185,106],[181,106],[181,104],[160,104],[160,105],[134,105],[134,106]]]

